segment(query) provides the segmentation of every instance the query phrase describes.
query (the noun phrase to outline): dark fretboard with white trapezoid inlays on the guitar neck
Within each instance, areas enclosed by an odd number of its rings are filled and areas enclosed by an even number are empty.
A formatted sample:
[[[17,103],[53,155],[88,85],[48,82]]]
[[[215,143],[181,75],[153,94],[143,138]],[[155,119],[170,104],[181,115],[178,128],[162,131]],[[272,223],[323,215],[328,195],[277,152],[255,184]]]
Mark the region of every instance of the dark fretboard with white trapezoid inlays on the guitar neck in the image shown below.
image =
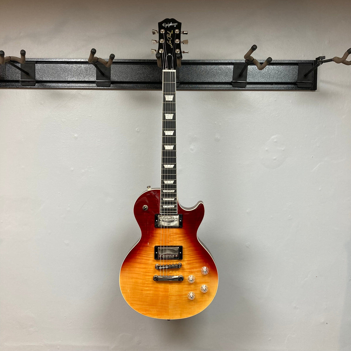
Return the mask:
[[[160,214],[177,213],[176,71],[162,75],[162,158]]]

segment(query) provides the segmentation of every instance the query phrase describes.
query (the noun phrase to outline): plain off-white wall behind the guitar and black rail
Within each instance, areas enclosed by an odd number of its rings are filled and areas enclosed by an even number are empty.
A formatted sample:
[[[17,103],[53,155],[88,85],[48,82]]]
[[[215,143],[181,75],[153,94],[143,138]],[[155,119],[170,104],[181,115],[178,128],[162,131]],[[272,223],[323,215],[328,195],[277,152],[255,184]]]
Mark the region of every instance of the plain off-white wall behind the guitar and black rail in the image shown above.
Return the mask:
[[[259,59],[330,58],[351,46],[350,13],[347,0],[3,0],[0,49],[151,59],[151,29],[174,17],[187,59],[253,44]],[[220,283],[171,322],[133,311],[118,284],[134,201],[159,185],[160,92],[1,89],[1,350],[351,350],[350,85],[350,66],[329,63],[316,92],[178,92],[179,200],[205,203]]]

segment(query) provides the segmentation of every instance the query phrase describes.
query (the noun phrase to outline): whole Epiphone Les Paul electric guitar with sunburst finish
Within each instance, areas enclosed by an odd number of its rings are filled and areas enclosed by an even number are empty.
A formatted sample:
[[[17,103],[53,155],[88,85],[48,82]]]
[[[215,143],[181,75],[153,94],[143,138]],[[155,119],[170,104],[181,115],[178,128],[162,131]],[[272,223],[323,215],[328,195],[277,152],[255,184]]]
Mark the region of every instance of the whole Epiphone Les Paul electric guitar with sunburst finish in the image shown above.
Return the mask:
[[[194,316],[213,300],[216,264],[197,237],[204,204],[181,207],[177,196],[176,67],[181,61],[181,23],[159,22],[156,58],[162,67],[161,188],[149,189],[134,205],[141,238],[123,261],[119,284],[137,312],[160,319]],[[187,44],[187,41],[184,41]]]

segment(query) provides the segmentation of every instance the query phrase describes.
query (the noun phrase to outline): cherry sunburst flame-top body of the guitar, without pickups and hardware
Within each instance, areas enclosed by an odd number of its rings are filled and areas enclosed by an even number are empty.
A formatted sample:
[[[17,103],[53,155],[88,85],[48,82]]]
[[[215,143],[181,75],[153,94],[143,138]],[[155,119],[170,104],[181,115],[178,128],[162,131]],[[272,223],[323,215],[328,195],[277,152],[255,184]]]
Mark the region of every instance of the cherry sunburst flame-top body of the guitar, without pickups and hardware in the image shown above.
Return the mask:
[[[122,264],[119,283],[126,302],[135,311],[148,317],[159,319],[191,317],[204,310],[216,295],[218,286],[216,264],[197,238],[197,230],[204,217],[204,205],[199,202],[192,208],[183,208],[178,202],[177,204],[177,213],[183,216],[183,227],[174,228],[155,227],[155,214],[160,211],[159,189],[148,190],[141,194],[134,205],[134,215],[141,229],[141,238]],[[182,258],[155,259],[157,246],[181,247]],[[169,268],[167,271],[155,268],[155,264],[162,266],[178,263],[181,263],[180,268]],[[207,267],[207,274],[201,273],[202,267]],[[181,275],[184,280],[155,281],[153,279],[155,275]],[[188,276],[193,276],[195,281],[189,283]],[[207,287],[205,293],[200,290],[203,285]],[[190,292],[195,296],[192,300],[188,298]]]

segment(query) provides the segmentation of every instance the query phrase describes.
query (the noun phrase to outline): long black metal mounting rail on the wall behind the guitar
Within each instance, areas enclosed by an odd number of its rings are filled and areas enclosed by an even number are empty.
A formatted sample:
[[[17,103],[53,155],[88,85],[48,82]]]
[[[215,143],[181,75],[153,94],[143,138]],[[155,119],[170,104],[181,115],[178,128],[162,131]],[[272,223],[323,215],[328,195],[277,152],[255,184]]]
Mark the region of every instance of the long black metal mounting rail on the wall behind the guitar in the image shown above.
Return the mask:
[[[115,59],[101,75],[85,59],[26,59],[0,65],[0,88],[161,89],[156,60]],[[99,62],[98,62],[99,64]],[[263,71],[244,60],[182,60],[178,90],[316,90],[317,60],[275,60]],[[22,68],[21,71],[13,67]],[[109,68],[110,69],[110,68]],[[26,73],[29,73],[28,75]],[[307,74],[306,77],[304,75]]]

